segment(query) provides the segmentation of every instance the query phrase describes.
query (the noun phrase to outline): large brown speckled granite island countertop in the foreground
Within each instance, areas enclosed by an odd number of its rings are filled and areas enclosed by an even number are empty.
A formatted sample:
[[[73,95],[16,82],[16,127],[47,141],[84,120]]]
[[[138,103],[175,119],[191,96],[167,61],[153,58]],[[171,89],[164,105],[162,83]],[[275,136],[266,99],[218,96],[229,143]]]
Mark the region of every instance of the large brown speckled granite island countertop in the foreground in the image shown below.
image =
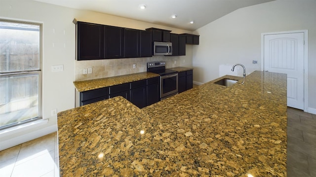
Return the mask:
[[[143,109],[116,97],[58,113],[61,175],[286,177],[286,75],[215,81]]]

